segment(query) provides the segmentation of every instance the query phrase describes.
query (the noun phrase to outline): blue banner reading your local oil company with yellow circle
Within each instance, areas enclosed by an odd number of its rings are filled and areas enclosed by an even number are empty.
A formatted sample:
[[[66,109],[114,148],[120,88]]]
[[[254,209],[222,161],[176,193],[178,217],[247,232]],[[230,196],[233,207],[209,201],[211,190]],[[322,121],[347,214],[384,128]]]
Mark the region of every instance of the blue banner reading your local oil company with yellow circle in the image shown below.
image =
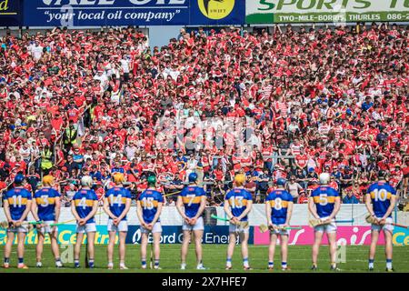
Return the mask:
[[[27,26],[242,25],[239,0],[25,0]]]

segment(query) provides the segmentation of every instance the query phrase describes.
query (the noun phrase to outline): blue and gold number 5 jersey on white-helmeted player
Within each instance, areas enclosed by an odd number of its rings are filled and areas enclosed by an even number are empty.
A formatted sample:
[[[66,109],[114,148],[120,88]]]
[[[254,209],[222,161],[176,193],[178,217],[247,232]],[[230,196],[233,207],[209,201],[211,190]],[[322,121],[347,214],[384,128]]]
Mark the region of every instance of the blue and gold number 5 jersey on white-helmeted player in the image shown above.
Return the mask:
[[[334,211],[335,200],[340,199],[338,191],[330,186],[319,186],[311,196],[314,198],[316,213],[321,218],[331,216]]]

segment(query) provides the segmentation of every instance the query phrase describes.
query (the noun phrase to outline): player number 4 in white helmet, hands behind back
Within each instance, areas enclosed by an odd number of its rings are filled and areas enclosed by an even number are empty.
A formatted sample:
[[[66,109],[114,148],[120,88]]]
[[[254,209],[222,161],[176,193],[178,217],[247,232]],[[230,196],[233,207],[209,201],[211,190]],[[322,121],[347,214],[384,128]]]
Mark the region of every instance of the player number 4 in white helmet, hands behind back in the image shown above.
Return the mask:
[[[81,245],[83,243],[84,234],[86,233],[88,245],[88,267],[94,268],[95,255],[95,213],[98,209],[98,197],[95,191],[91,189],[93,186],[93,178],[91,176],[83,176],[81,178],[81,189],[77,191],[71,202],[71,211],[77,221],[76,224],[76,242],[74,249],[74,266],[80,267],[79,257]]]

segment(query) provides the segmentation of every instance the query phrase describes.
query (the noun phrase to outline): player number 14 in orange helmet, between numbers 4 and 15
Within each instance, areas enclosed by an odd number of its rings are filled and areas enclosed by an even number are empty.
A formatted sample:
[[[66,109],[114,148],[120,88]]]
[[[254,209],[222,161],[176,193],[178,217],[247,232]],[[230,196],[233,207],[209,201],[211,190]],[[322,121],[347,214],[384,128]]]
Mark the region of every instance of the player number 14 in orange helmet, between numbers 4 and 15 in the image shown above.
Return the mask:
[[[104,210],[108,218],[108,269],[114,268],[114,246],[116,233],[119,233],[119,268],[127,270],[125,266],[125,239],[128,232],[126,215],[131,208],[131,192],[125,189],[123,183],[125,176],[122,173],[115,172],[115,186],[109,189],[104,198]]]

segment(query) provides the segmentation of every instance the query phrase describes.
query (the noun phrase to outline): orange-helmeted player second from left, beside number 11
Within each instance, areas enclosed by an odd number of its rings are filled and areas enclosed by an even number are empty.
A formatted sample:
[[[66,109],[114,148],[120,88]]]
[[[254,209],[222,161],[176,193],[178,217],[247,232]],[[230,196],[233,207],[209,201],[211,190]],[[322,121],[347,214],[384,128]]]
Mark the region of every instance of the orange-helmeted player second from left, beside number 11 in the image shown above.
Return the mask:
[[[36,266],[41,267],[41,259],[43,256],[45,234],[48,234],[51,239],[51,250],[55,257],[55,266],[62,267],[60,260],[60,252],[58,249],[57,226],[50,226],[58,223],[60,217],[60,194],[54,188],[54,177],[47,175],[43,177],[43,187],[35,192],[32,202],[31,211],[35,220],[42,221],[42,224],[36,225],[38,242],[35,248]]]

